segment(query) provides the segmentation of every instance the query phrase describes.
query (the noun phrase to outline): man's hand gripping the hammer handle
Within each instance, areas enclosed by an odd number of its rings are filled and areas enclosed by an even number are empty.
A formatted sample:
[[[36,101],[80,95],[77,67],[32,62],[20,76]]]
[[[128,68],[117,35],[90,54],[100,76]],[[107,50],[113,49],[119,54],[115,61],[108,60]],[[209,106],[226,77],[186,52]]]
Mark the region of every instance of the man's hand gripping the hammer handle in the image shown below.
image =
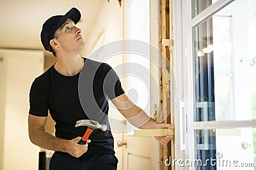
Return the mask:
[[[74,138],[65,143],[66,152],[72,155],[73,157],[81,157],[88,150],[88,143],[91,142],[90,139],[87,140],[86,145],[79,145],[81,137]]]

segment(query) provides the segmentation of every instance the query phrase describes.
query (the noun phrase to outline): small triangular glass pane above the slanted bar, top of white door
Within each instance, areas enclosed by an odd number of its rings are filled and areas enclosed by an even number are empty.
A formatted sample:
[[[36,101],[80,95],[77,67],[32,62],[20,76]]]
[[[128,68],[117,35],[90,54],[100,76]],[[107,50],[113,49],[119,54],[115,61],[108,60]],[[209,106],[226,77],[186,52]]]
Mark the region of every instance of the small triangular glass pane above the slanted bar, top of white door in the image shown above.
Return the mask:
[[[191,0],[191,18],[196,17],[196,15],[216,1],[218,0]]]

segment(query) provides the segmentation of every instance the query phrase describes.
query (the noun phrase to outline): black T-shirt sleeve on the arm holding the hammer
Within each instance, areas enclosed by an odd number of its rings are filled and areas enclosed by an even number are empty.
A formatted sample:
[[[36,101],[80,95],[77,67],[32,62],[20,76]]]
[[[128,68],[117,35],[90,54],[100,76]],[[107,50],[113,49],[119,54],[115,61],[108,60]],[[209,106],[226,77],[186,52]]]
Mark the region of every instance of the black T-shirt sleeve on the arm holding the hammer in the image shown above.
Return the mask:
[[[29,92],[29,114],[38,117],[47,117],[48,104],[47,97],[45,96],[42,88],[37,80],[33,81]]]

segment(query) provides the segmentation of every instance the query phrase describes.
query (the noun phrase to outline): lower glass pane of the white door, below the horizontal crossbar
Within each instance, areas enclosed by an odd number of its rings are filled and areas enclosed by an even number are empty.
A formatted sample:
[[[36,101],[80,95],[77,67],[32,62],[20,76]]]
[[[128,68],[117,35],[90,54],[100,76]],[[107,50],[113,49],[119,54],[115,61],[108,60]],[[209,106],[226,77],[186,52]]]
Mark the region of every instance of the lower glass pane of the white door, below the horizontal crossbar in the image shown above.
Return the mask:
[[[256,165],[255,130],[195,130],[195,159],[186,161],[193,163],[189,166],[195,166],[195,169],[253,170]]]

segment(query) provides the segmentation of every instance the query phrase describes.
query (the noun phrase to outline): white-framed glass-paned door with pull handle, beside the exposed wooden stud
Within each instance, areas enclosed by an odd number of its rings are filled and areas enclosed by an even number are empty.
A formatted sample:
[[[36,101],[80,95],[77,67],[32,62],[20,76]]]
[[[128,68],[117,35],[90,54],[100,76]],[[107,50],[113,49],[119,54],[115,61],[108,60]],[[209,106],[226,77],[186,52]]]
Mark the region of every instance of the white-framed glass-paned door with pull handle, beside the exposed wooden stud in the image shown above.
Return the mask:
[[[188,128],[176,167],[254,169],[255,1],[182,4]]]

